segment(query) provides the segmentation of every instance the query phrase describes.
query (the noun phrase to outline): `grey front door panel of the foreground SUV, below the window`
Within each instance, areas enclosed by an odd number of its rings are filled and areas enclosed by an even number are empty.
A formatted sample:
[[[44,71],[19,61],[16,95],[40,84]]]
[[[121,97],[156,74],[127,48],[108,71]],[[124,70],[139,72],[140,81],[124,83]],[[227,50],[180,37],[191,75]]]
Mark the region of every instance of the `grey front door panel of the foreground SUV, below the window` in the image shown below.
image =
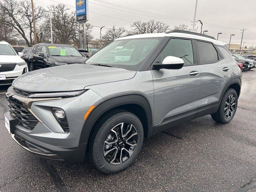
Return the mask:
[[[175,114],[197,108],[201,80],[200,74],[190,76],[192,71],[200,72],[199,66],[184,66],[179,70],[152,70],[155,92],[154,125]]]

